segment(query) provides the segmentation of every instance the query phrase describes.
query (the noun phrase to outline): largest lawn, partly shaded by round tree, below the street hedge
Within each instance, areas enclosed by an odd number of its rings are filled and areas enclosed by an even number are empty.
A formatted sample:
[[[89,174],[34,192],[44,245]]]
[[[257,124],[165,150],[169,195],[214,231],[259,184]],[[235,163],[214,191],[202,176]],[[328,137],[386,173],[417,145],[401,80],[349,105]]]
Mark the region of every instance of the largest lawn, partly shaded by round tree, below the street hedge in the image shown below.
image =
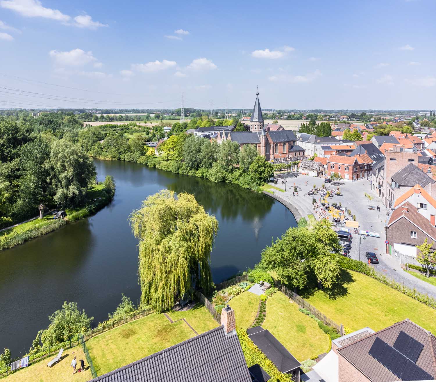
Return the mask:
[[[341,277],[341,286],[301,296],[327,317],[352,330],[367,326],[380,330],[409,318],[436,333],[436,310],[361,273],[343,269]]]

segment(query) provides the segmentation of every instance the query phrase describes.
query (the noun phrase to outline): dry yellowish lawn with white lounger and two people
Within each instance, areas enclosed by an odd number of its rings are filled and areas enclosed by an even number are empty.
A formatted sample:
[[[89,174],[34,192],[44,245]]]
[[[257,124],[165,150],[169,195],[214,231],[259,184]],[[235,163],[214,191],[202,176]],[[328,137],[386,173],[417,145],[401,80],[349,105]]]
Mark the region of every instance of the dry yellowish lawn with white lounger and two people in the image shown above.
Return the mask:
[[[73,353],[74,352],[74,353]],[[57,351],[56,351],[57,353]],[[2,382],[86,382],[92,379],[91,371],[88,368],[85,354],[81,346],[76,346],[64,351],[61,361],[56,365],[49,368],[48,362],[51,361],[57,354],[53,354],[51,357],[43,359],[37,363],[31,364],[29,367],[22,370],[18,370],[14,374],[8,375],[1,379]],[[70,367],[71,361],[74,357],[77,357],[77,365],[80,365],[78,361],[80,358],[85,360],[84,372],[76,372],[73,375],[73,368]]]

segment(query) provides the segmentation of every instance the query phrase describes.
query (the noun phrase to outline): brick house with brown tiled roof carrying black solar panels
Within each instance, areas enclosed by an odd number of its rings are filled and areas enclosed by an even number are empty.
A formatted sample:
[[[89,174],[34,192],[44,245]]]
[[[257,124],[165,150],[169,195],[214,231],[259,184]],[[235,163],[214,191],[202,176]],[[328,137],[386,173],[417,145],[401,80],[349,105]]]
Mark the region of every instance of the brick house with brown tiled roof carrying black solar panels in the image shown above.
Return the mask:
[[[409,319],[358,337],[336,350],[338,382],[433,380],[435,341],[433,334]]]

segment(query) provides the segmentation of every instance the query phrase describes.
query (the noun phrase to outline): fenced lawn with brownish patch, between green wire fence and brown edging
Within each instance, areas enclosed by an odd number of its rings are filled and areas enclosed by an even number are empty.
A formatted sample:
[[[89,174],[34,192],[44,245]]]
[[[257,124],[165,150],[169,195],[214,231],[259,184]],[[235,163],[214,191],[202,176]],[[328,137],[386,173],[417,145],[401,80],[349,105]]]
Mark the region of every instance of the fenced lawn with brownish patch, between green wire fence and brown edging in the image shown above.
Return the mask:
[[[92,337],[86,346],[102,375],[194,336],[184,321],[170,323],[163,314],[150,314]]]

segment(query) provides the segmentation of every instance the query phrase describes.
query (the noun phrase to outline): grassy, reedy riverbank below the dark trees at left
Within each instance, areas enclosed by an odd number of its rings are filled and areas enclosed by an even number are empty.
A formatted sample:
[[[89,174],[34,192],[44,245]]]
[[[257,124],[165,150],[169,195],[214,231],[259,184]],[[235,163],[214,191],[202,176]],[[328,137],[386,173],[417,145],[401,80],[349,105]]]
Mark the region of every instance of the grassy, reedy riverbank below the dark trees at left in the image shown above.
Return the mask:
[[[89,217],[107,206],[112,197],[106,193],[104,185],[94,184],[86,192],[86,203],[82,207],[66,209],[65,219],[53,219],[51,214],[42,219],[34,219],[25,223],[15,225],[0,232],[0,251],[23,244],[28,240],[34,239],[50,232],[53,232],[67,223]]]

